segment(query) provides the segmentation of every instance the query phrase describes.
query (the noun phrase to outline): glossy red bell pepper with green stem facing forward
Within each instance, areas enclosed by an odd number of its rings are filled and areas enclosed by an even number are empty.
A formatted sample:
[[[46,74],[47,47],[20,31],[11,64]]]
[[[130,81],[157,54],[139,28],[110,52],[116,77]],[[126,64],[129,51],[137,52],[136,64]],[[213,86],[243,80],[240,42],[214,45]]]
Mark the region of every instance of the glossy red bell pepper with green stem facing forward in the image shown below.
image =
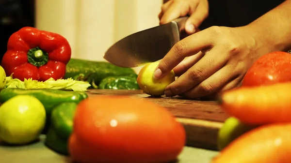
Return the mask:
[[[71,59],[68,41],[57,33],[24,27],[13,33],[7,44],[1,66],[7,76],[21,81],[45,81],[50,77],[64,78],[65,67]]]

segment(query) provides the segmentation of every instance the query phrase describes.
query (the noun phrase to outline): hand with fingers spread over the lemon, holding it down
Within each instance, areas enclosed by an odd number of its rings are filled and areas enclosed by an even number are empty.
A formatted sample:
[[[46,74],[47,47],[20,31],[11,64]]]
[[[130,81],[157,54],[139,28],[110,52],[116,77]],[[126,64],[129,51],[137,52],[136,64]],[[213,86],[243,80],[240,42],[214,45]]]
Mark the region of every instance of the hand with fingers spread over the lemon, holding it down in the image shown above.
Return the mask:
[[[179,77],[166,87],[165,95],[191,99],[238,87],[253,62],[270,51],[251,31],[247,26],[215,26],[194,33],[172,47],[154,77],[174,69]]]

